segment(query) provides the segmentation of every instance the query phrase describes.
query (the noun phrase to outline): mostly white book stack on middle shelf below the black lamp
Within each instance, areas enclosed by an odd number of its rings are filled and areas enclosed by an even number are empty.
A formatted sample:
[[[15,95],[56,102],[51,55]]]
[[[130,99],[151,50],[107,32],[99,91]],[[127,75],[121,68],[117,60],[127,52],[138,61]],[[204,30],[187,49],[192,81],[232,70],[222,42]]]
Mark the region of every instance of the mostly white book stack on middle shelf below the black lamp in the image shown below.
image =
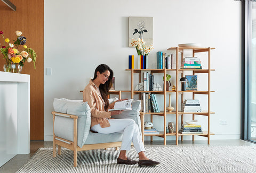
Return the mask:
[[[183,113],[201,113],[202,108],[200,102],[197,99],[186,99],[181,104],[181,111]]]

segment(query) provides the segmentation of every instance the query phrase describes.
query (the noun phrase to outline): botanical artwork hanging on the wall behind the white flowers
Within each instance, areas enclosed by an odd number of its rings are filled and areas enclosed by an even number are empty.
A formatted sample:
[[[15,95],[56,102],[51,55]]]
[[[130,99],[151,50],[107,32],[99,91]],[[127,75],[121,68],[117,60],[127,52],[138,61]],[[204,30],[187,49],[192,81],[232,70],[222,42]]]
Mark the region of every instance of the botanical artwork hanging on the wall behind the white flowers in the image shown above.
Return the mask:
[[[129,17],[129,47],[132,39],[143,39],[146,46],[153,44],[153,17]]]

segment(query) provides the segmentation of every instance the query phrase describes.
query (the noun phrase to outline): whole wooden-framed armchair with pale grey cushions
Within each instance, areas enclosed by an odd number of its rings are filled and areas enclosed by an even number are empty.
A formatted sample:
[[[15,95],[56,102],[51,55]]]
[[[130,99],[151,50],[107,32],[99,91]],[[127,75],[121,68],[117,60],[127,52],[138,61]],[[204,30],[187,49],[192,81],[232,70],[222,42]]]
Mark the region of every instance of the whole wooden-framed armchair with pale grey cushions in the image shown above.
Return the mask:
[[[83,100],[54,99],[53,107],[53,157],[61,154],[61,147],[73,150],[74,167],[77,167],[77,152],[115,147],[122,143],[122,133],[101,134],[90,132],[91,113],[87,102]],[[143,127],[143,115],[140,116],[140,101],[133,101],[132,110],[125,110],[113,118],[131,118]]]

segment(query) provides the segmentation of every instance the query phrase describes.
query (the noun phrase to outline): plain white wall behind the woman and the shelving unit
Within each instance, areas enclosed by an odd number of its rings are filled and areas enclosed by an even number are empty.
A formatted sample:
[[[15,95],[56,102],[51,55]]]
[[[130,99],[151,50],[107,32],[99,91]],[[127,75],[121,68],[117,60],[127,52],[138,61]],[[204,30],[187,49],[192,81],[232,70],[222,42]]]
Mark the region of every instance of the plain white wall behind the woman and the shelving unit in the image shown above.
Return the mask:
[[[82,99],[79,91],[84,89],[99,64],[108,64],[114,70],[116,90],[130,90],[131,76],[124,70],[128,68],[128,55],[136,55],[136,51],[128,44],[129,16],[153,17],[154,51],[149,54],[152,64],[156,63],[157,51],[170,54],[166,49],[178,44],[198,42],[203,47],[216,48],[211,56],[211,67],[216,70],[211,73],[211,89],[215,91],[211,95],[211,109],[215,112],[211,116],[211,131],[215,135],[211,139],[239,139],[241,2],[45,0],[44,10],[44,67],[52,68],[52,75],[44,76],[45,140],[52,140],[53,99]],[[198,56],[204,59],[207,54]],[[157,80],[160,84],[161,78],[162,75]],[[207,88],[205,85],[207,77],[202,76],[198,88]],[[207,97],[201,99],[203,107],[206,100]],[[206,128],[207,118],[198,119]],[[220,120],[228,124],[220,125]],[[169,115],[167,122],[171,121],[174,117]],[[162,122],[162,117],[156,117],[155,127],[163,130]],[[167,140],[174,137],[168,136]]]

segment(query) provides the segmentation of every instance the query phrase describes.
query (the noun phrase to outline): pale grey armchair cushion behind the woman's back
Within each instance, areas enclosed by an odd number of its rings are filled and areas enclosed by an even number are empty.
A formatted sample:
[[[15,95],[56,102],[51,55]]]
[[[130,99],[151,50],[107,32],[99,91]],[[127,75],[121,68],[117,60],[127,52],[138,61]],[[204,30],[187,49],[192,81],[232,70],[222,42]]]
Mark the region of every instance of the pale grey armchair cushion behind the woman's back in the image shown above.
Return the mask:
[[[54,99],[53,107],[56,112],[78,116],[77,145],[82,148],[91,127],[91,110],[87,102]],[[54,122],[55,135],[69,141],[74,141],[73,124],[73,119],[56,116]]]

